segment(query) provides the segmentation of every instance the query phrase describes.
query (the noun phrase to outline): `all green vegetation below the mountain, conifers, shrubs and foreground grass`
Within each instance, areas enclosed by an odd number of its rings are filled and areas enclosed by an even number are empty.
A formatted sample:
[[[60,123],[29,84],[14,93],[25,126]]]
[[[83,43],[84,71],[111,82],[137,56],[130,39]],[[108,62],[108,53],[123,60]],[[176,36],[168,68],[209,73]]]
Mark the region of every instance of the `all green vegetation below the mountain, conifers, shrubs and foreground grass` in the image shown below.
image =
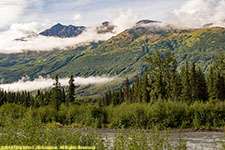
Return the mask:
[[[182,133],[179,141],[172,144],[168,130],[224,130],[222,52],[209,72],[188,62],[178,70],[176,59],[169,52],[156,51],[145,61],[149,71],[127,78],[123,88],[108,91],[97,99],[76,99],[73,75],[68,87],[62,87],[56,76],[50,90],[0,90],[0,145],[186,150]],[[98,128],[121,132],[114,135],[112,143],[94,131]],[[85,129],[89,131],[83,132]],[[130,132],[122,132],[124,129]],[[222,141],[221,146],[225,147]]]

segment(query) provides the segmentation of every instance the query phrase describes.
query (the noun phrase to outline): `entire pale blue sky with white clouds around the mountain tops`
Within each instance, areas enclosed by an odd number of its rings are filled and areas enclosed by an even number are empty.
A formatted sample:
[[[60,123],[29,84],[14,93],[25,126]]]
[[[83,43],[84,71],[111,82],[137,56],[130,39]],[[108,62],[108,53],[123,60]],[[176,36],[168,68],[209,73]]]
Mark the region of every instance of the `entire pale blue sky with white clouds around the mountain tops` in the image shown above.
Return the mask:
[[[106,40],[114,36],[99,36],[89,30],[76,39],[38,36],[27,42],[14,41],[56,23],[90,27],[111,21],[117,26],[116,34],[141,19],[192,28],[207,23],[224,27],[225,0],[0,0],[0,14],[0,52],[11,53],[49,50],[91,41],[93,37]]]

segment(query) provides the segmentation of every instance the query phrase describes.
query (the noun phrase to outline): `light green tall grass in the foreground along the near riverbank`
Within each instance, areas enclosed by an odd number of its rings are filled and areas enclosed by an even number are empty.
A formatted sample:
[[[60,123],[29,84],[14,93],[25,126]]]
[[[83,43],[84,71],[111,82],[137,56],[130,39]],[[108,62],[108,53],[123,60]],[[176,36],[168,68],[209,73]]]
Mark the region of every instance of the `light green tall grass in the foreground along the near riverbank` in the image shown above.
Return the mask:
[[[132,131],[117,133],[113,140],[105,139],[93,130],[83,131],[73,128],[59,128],[56,123],[41,124],[37,118],[26,114],[26,120],[17,122],[6,122],[1,128],[1,146],[95,146],[98,150],[159,150],[179,149],[185,150],[186,143],[174,144],[170,141],[168,134],[156,132],[145,133],[143,131]],[[15,123],[15,122],[14,122]],[[182,141],[182,139],[180,139]]]

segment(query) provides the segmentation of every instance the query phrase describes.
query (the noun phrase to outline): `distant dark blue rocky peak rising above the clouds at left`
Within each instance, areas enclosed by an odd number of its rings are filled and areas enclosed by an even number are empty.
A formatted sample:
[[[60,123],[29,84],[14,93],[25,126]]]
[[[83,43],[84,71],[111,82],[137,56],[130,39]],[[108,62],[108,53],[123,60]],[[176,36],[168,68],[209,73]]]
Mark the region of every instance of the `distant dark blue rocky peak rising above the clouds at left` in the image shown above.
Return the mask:
[[[58,23],[53,27],[51,27],[50,29],[41,32],[40,35],[55,36],[61,38],[75,37],[80,35],[85,29],[86,27],[84,26],[73,26],[73,25],[65,26]]]

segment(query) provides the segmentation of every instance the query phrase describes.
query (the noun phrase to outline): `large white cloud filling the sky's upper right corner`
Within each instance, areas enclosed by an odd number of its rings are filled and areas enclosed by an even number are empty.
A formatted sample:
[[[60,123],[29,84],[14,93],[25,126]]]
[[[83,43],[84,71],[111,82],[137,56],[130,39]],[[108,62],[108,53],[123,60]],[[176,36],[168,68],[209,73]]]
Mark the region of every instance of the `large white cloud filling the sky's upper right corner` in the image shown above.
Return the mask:
[[[188,0],[173,10],[171,19],[184,27],[202,27],[208,23],[225,26],[225,0]]]

